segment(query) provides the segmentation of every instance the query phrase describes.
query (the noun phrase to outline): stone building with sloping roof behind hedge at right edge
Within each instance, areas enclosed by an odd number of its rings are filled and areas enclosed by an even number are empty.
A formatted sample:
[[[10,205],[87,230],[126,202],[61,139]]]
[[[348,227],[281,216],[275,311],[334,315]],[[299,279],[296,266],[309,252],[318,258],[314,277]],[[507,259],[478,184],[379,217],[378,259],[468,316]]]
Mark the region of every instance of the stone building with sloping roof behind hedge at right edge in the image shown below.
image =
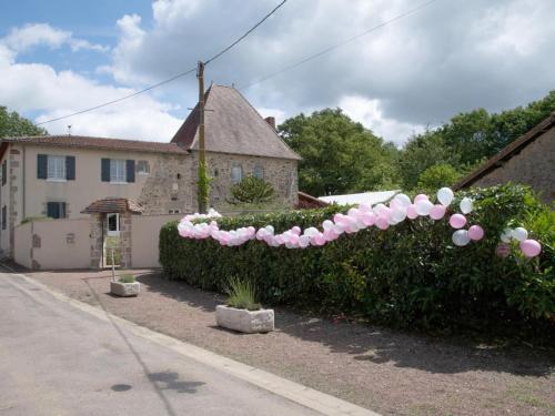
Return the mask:
[[[546,203],[555,200],[555,112],[461,180],[454,189],[507,182],[529,185]]]

